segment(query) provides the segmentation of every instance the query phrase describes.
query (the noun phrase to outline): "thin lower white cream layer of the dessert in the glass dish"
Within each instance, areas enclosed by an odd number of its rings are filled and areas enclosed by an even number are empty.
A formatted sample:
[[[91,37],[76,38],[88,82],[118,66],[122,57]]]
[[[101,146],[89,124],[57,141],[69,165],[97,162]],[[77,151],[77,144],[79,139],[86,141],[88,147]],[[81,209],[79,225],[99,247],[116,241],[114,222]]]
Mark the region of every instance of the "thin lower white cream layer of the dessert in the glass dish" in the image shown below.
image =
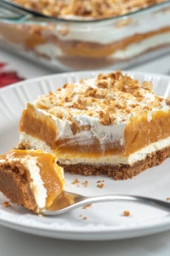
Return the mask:
[[[150,38],[141,40],[139,43],[131,43],[128,47],[117,50],[110,57],[118,60],[131,59],[132,57],[147,51],[147,49],[158,47],[163,44],[170,44],[170,32],[151,36]],[[53,43],[40,44],[39,46],[36,46],[35,49],[37,53],[46,55],[50,59],[63,56],[63,52]]]

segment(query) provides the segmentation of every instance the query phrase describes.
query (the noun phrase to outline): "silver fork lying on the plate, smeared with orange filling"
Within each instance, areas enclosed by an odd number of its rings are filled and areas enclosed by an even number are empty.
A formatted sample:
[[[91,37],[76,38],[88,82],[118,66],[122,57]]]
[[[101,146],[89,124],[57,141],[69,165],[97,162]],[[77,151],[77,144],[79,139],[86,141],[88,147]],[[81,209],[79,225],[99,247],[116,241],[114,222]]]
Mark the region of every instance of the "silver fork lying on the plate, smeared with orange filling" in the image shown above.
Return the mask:
[[[144,196],[131,196],[131,195],[108,195],[108,196],[94,196],[94,197],[86,197],[82,195],[78,195],[75,193],[71,192],[64,192],[65,197],[70,197],[72,200],[68,205],[65,207],[61,207],[57,210],[54,208],[49,208],[49,209],[42,209],[41,213],[44,215],[58,215],[62,213],[69,212],[69,210],[73,210],[78,207],[82,207],[84,205],[88,205],[91,203],[101,203],[101,202],[109,202],[109,201],[134,201],[136,203],[142,203],[146,205],[150,205],[152,207],[156,207],[162,210],[166,210],[170,212],[170,203],[163,201],[163,200],[158,200],[158,199],[153,199],[150,197],[144,197]]]

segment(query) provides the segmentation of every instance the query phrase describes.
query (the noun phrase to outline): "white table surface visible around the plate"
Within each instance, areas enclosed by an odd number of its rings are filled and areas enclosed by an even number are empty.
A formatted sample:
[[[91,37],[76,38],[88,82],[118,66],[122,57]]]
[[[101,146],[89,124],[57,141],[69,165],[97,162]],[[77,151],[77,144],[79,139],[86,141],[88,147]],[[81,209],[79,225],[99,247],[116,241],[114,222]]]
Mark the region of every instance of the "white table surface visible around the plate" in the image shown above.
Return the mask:
[[[0,62],[10,63],[19,75],[31,78],[52,73],[0,49]],[[30,65],[31,64],[31,65]],[[133,69],[170,74],[170,56],[142,64]],[[169,256],[170,231],[152,236],[120,241],[76,242],[36,237],[0,226],[0,256]]]

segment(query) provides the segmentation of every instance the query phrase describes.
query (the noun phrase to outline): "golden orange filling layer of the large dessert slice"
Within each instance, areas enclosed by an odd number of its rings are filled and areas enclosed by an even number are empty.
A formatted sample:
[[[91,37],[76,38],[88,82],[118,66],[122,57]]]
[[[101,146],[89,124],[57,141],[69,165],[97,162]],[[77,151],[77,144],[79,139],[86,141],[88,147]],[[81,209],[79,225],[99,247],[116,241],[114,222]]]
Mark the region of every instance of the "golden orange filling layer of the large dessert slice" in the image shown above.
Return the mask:
[[[150,143],[159,141],[170,136],[170,110],[159,110],[152,113],[151,121],[148,121],[148,113],[142,113],[138,118],[130,118],[125,126],[125,144],[105,144],[105,155],[129,155],[133,152],[148,146]],[[20,132],[45,141],[56,155],[65,153],[78,154],[83,156],[99,156],[101,154],[99,138],[93,138],[92,142],[86,145],[70,143],[73,138],[61,138],[56,140],[56,129],[54,121],[46,115],[36,117],[35,110],[31,105],[23,111],[20,120]],[[49,137],[48,137],[49,134]],[[49,139],[50,138],[50,139]]]

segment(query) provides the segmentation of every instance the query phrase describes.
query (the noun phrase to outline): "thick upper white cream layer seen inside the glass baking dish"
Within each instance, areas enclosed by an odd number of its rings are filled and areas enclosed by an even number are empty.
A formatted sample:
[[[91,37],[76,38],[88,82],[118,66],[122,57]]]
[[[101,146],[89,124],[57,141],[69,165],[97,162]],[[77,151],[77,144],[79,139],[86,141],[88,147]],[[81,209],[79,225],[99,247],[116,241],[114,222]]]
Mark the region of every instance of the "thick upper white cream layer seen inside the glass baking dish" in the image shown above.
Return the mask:
[[[94,42],[94,43],[112,43],[117,40],[133,36],[135,34],[145,34],[150,31],[159,30],[163,27],[170,26],[169,19],[170,11],[160,11],[158,13],[152,13],[150,15],[141,15],[141,18],[133,18],[128,20],[129,24],[121,27],[122,19],[120,22],[105,22],[103,24],[81,24],[78,26],[73,26],[66,24],[58,24],[53,31],[44,31],[48,35],[53,33],[59,39],[62,40],[78,40],[84,42]],[[126,19],[123,20],[124,22]],[[59,31],[66,31],[62,34]]]

